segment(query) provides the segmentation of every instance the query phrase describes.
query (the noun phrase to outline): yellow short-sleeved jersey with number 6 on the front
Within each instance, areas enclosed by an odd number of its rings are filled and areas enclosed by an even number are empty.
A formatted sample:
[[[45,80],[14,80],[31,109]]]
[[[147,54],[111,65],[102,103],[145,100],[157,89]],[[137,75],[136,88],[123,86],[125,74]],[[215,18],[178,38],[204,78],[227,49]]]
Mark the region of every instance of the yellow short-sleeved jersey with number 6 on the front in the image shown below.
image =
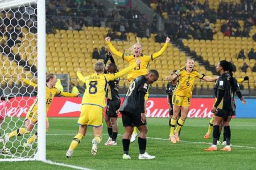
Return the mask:
[[[192,96],[195,79],[202,79],[204,77],[204,75],[199,73],[197,70],[192,70],[191,73],[188,73],[185,67],[177,70],[175,74],[179,76],[179,83],[174,90],[174,95],[188,98],[191,98]]]

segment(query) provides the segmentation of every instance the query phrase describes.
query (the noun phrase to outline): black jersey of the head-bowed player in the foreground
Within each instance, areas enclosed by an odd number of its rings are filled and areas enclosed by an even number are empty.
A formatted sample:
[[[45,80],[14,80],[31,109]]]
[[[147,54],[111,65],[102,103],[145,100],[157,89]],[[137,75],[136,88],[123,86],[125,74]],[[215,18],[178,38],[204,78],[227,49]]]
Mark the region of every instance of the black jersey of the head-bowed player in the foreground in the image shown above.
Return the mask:
[[[120,112],[144,113],[144,96],[148,88],[148,81],[141,75],[135,78],[129,86],[129,90],[123,100]]]

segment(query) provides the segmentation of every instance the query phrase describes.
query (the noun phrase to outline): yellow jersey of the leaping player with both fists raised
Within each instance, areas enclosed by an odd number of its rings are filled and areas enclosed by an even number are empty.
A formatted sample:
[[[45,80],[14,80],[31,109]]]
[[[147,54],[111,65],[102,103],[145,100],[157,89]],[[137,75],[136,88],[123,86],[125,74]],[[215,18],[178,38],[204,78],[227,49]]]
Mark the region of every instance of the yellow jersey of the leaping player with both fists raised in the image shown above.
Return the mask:
[[[110,41],[107,42],[107,45],[109,46],[109,49],[113,54],[115,54],[119,58],[122,58],[124,61],[129,62],[129,66],[131,66],[136,61],[136,57],[133,54],[125,55],[121,52],[118,52],[118,50],[114,48],[114,46]],[[137,78],[137,76],[147,74],[148,72],[147,67],[149,63],[153,61],[153,59],[160,57],[163,54],[163,52],[167,49],[167,46],[168,46],[168,42],[164,44],[163,48],[160,49],[159,52],[156,52],[151,56],[142,55],[141,57],[139,57],[141,59],[141,64],[134,67],[134,69],[131,70],[127,75],[127,79],[129,80],[129,82]]]

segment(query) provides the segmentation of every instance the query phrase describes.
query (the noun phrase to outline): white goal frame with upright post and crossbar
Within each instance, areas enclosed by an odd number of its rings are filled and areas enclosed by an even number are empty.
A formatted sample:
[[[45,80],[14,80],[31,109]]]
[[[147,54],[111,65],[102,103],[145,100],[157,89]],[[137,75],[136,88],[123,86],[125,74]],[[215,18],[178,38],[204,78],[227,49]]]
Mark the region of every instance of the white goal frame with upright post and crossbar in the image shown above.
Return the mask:
[[[46,162],[46,2],[45,0],[0,0],[0,9],[37,4],[38,22],[38,152],[34,158],[0,159],[6,161],[40,160]]]

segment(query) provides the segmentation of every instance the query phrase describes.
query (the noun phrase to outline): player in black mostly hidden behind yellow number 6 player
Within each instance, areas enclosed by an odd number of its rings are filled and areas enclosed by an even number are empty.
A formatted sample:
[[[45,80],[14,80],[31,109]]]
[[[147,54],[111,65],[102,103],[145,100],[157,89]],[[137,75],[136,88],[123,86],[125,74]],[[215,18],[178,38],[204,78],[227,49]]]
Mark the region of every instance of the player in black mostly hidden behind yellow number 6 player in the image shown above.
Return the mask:
[[[173,70],[172,74],[175,74],[177,70]],[[178,79],[178,78],[177,78]],[[171,128],[171,119],[172,116],[174,115],[174,109],[172,104],[172,95],[174,95],[174,90],[177,87],[177,79],[172,80],[171,82],[167,83],[167,88],[166,88],[166,93],[167,93],[167,101],[168,101],[168,107],[169,107],[169,126]],[[179,120],[181,116],[181,112],[179,113],[179,117],[177,119]]]

